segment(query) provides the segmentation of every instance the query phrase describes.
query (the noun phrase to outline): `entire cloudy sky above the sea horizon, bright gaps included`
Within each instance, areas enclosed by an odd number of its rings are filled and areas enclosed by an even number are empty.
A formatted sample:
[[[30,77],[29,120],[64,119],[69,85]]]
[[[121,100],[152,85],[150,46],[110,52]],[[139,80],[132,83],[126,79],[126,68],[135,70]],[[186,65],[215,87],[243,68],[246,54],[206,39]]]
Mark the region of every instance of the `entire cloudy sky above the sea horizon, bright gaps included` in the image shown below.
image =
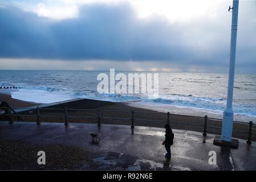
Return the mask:
[[[227,73],[230,0],[0,2],[0,69]],[[236,73],[256,74],[256,1],[239,1]]]

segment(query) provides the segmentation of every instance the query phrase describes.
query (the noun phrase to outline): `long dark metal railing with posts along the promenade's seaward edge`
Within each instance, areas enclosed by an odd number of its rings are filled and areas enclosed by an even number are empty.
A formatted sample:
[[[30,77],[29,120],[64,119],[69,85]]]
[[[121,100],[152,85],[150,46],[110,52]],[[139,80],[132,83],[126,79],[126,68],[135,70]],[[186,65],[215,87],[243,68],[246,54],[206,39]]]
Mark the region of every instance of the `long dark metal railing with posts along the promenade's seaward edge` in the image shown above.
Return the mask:
[[[207,115],[205,115],[204,117],[200,117],[200,116],[193,116],[193,115],[181,115],[181,114],[170,114],[169,112],[167,113],[159,113],[159,112],[148,112],[148,111],[129,111],[129,110],[101,110],[101,109],[68,109],[67,107],[65,107],[64,109],[56,109],[56,108],[39,108],[36,107],[36,109],[30,109],[27,111],[33,111],[36,110],[36,114],[13,114],[13,110],[10,107],[1,107],[0,110],[6,110],[8,109],[8,114],[0,114],[0,116],[5,117],[7,116],[9,123],[12,124],[13,118],[15,116],[25,116],[25,117],[36,117],[36,125],[40,125],[40,118],[41,117],[64,117],[64,126],[68,126],[68,118],[87,118],[87,119],[97,119],[97,126],[100,127],[101,126],[101,119],[121,119],[121,120],[127,120],[127,121],[131,121],[131,133],[133,134],[133,130],[135,129],[135,121],[152,121],[152,122],[166,122],[166,123],[173,123],[173,124],[178,124],[178,125],[190,125],[190,126],[201,126],[204,127],[204,131],[202,133],[202,135],[204,135],[204,137],[207,136],[208,130],[209,128],[213,128],[213,129],[220,129],[221,127],[216,127],[216,126],[211,126],[209,125],[208,121],[212,120],[212,121],[222,121],[222,119],[218,119],[218,118],[209,118]],[[24,107],[13,107],[13,109],[25,109]],[[64,111],[64,115],[42,115],[40,114],[40,110],[56,110],[56,111]],[[82,115],[68,115],[68,111],[95,111],[96,112],[96,116],[82,116]],[[26,111],[21,111],[20,113],[23,113]],[[123,112],[123,113],[131,113],[131,118],[116,118],[116,117],[102,117],[101,112]],[[34,113],[34,111],[32,112]],[[154,119],[139,119],[139,118],[135,118],[135,113],[142,113],[142,114],[159,114],[159,115],[166,115],[166,121],[163,120],[154,120]],[[174,121],[170,121],[170,117],[172,116],[184,116],[184,117],[193,117],[193,118],[201,118],[204,119],[204,125],[199,125],[199,124],[194,124],[194,123],[186,123],[186,122],[174,122]],[[247,144],[251,144],[251,137],[252,135],[256,136],[256,133],[253,133],[253,130],[255,130],[256,132],[256,128],[253,127],[255,125],[255,123],[253,123],[252,121],[250,122],[239,122],[239,121],[234,121],[234,123],[239,123],[242,125],[248,125],[247,127],[247,131],[241,131],[241,130],[234,130],[238,133],[243,133],[243,134],[247,134]]]

